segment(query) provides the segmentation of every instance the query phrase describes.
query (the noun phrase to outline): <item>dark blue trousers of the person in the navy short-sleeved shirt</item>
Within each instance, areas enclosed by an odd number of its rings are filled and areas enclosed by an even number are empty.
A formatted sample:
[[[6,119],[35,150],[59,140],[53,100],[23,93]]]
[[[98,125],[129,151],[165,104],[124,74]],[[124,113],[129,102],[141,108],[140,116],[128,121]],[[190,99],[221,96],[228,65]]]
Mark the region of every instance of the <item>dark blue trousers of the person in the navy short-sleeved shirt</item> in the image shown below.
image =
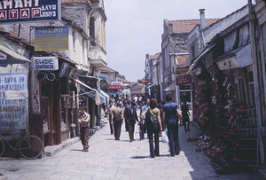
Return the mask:
[[[178,140],[178,123],[167,124],[167,126],[168,126],[170,153],[171,156],[175,156],[180,153],[180,146]]]

